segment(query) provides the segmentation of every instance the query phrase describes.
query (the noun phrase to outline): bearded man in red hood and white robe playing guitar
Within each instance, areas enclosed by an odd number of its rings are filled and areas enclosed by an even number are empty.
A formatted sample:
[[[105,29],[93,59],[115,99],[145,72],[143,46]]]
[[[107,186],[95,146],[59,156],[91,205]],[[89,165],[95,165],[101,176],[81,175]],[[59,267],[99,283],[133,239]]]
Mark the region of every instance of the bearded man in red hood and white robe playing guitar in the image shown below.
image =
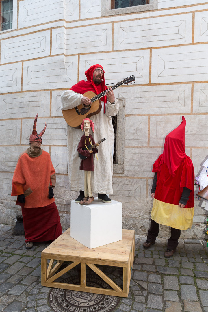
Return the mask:
[[[98,199],[105,203],[111,200],[107,194],[113,193],[113,149],[114,149],[114,129],[111,116],[117,115],[119,111],[118,100],[114,97],[112,88],[105,85],[104,69],[96,64],[85,71],[87,81],[81,80],[73,85],[70,90],[61,95],[61,110],[68,110],[78,105],[91,103],[90,99],[83,96],[87,91],[99,94],[106,90],[106,94],[100,99],[102,109],[97,115],[91,116],[95,125],[93,139],[98,142],[101,138],[106,141],[99,147],[99,156],[94,161],[94,172],[91,174],[92,193],[98,193]],[[80,202],[85,197],[84,194],[84,174],[80,171],[80,159],[77,156],[77,144],[80,142],[82,133],[79,129],[67,127],[67,159],[71,191],[80,191],[80,195],[75,202]]]

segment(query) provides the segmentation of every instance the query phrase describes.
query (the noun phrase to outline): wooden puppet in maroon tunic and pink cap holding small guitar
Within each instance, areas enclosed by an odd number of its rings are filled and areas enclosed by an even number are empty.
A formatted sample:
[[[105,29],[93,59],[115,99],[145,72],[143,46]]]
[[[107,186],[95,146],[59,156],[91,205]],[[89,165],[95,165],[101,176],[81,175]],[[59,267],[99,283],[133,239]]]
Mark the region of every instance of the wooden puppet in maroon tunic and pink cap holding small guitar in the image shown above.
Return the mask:
[[[94,132],[94,124],[92,120],[89,118],[83,119],[81,124],[81,129],[85,131],[85,134],[80,139],[80,143],[78,145],[78,152],[84,156],[82,157],[82,161],[80,164],[80,170],[85,171],[85,197],[80,201],[80,205],[89,205],[91,202],[94,201],[94,197],[92,196],[91,190],[91,171],[94,171],[94,162],[93,162],[93,154],[98,152],[97,147],[99,146],[98,143],[95,144],[94,139],[91,134],[89,134],[89,128],[92,128]],[[91,149],[95,146],[93,149]]]

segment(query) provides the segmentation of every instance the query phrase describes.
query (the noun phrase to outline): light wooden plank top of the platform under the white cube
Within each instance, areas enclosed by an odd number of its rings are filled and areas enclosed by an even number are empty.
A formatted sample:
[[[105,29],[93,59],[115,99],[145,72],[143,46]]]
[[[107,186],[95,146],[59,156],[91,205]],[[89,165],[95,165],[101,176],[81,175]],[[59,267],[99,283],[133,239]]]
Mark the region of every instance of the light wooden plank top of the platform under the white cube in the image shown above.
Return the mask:
[[[70,236],[69,228],[41,252],[41,257],[65,261],[68,257],[68,261],[89,259],[128,263],[133,239],[133,230],[122,230],[121,241],[89,249]]]

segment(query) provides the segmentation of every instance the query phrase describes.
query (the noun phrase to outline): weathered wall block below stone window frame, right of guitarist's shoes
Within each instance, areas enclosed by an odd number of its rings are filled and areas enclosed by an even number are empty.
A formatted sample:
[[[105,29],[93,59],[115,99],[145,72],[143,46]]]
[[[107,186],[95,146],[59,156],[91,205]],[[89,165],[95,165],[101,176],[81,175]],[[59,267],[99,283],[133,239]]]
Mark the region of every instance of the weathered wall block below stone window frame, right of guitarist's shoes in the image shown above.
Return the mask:
[[[146,179],[113,178],[113,196],[111,199],[121,202],[137,203],[147,197]]]

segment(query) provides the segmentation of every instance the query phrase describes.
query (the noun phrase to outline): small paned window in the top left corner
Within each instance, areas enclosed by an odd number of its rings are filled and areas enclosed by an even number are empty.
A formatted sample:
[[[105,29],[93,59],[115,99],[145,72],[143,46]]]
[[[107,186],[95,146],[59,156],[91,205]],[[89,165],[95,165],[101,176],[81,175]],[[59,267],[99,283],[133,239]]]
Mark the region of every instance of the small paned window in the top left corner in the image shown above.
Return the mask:
[[[1,30],[12,28],[13,1],[1,0]]]

